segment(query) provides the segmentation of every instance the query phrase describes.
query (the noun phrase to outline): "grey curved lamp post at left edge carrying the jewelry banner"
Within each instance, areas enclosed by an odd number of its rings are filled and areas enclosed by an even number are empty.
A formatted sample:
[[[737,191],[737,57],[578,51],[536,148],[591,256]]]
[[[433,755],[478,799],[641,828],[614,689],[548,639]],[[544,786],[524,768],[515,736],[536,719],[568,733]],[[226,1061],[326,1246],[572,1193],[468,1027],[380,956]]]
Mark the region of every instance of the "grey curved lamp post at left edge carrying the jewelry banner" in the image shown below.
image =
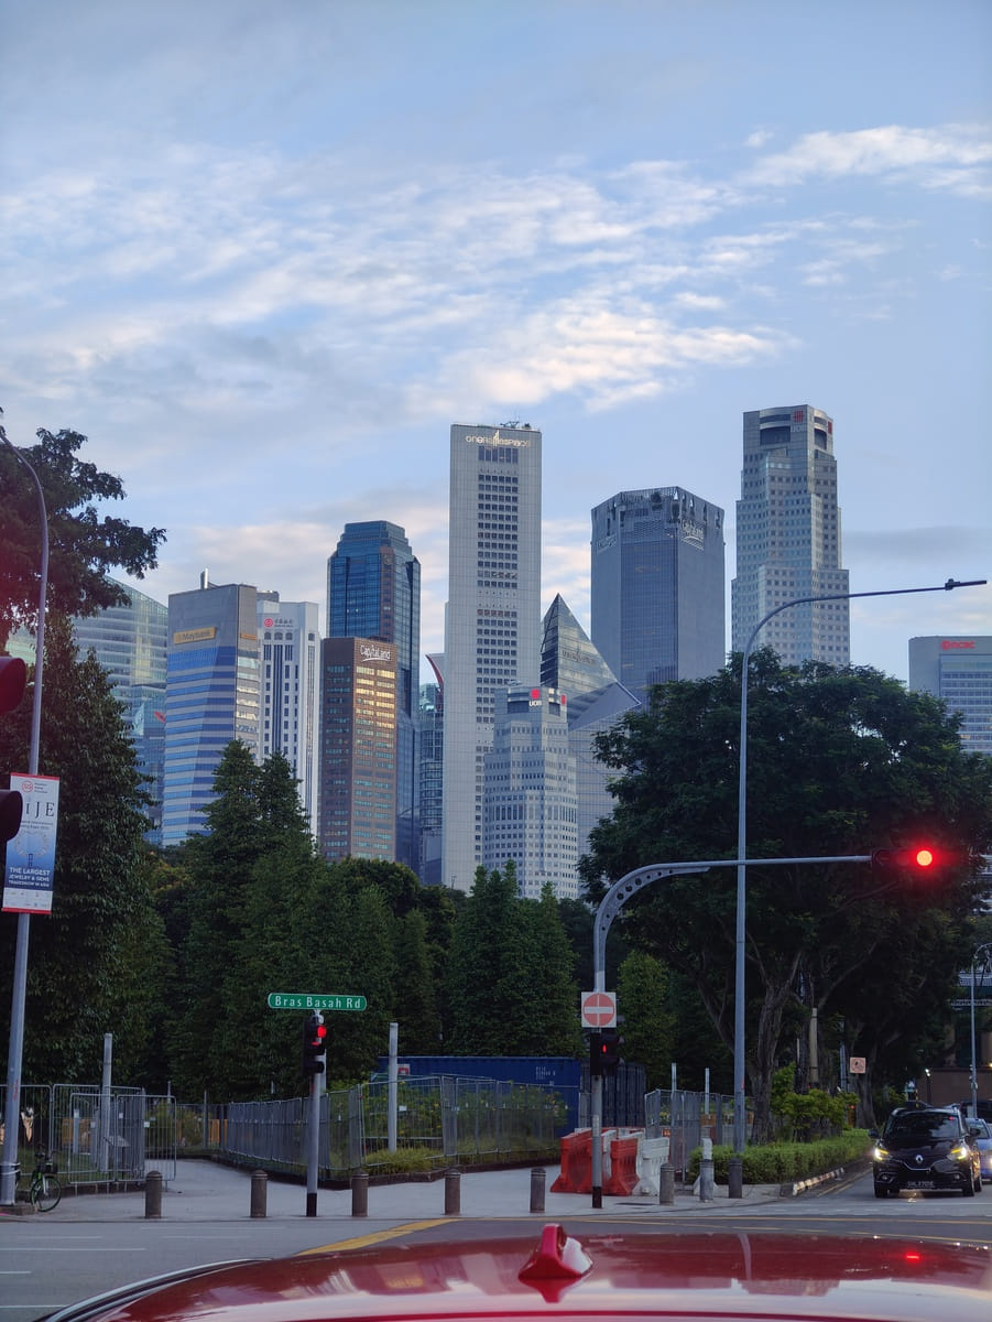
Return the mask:
[[[49,525],[45,510],[45,493],[41,481],[24,455],[7,439],[0,427],[0,442],[7,446],[13,457],[26,468],[38,496],[38,522],[41,527],[41,572],[38,586],[38,628],[34,635],[34,695],[30,720],[30,752],[28,775],[38,773],[38,746],[41,742],[41,680],[45,662],[45,605],[48,599],[49,574]],[[11,995],[11,1036],[7,1056],[7,1105],[4,1107],[4,1147],[0,1162],[0,1206],[11,1207],[17,1195],[17,1138],[20,1134],[21,1105],[21,1062],[24,1058],[24,1006],[28,995],[28,937],[30,935],[30,914],[17,915],[17,945],[13,962],[13,992]]]

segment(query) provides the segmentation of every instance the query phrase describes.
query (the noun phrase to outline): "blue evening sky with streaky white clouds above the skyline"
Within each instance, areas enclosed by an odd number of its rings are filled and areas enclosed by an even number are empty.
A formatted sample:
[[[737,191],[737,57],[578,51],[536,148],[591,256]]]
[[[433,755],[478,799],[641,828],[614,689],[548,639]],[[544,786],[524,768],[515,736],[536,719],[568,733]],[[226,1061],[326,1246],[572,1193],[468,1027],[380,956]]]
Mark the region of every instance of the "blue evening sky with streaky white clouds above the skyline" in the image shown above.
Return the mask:
[[[89,438],[156,600],[324,620],[384,518],[440,652],[449,428],[516,420],[543,607],[589,628],[589,512],[659,485],[729,604],[741,415],[799,403],[852,592],[992,576],[988,0],[0,0],[0,49],[7,434]],[[852,602],[857,665],[933,633],[992,588]]]

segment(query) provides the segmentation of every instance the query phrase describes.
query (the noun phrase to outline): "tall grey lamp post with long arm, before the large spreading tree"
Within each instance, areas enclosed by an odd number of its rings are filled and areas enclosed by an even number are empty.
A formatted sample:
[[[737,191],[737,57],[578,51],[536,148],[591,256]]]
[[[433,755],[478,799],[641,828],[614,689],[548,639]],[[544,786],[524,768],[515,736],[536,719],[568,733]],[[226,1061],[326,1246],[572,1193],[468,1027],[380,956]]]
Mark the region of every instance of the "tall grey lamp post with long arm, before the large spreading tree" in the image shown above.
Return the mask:
[[[939,587],[900,587],[880,588],[874,592],[831,592],[824,596],[798,596],[791,602],[782,602],[774,611],[763,615],[748,636],[741,654],[741,735],[740,735],[740,763],[737,779],[737,914],[736,914],[736,961],[734,961],[734,1014],[733,1014],[733,1159],[728,1192],[732,1198],[742,1196],[741,1187],[741,1161],[746,1134],[745,1110],[745,1044],[744,1044],[744,947],[745,947],[745,910],[748,887],[748,668],[754,640],[781,611],[787,611],[793,605],[810,605],[814,602],[851,602],[861,596],[902,596],[907,592],[950,592],[955,587],[980,587],[987,579],[970,579],[958,582],[947,579]]]

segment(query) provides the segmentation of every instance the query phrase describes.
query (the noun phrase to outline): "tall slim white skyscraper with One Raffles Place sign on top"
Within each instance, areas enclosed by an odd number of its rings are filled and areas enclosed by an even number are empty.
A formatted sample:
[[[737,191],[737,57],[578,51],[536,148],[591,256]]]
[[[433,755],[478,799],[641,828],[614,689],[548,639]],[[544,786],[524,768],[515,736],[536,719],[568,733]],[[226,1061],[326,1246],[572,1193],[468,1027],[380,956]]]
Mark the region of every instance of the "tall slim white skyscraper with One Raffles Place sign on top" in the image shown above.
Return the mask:
[[[540,673],[540,440],[519,423],[450,431],[441,874],[464,891],[482,862],[494,694]]]

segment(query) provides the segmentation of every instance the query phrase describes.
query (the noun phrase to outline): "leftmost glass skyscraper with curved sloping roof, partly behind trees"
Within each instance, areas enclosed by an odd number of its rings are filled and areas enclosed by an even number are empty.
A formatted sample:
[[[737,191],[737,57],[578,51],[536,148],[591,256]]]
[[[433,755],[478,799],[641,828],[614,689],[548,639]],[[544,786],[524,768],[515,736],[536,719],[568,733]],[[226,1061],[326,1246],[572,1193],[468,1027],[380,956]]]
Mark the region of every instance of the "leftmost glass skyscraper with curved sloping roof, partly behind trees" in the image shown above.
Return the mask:
[[[79,656],[92,650],[124,703],[139,771],[148,777],[148,841],[161,845],[165,773],[165,649],[169,611],[127,583],[127,603],[73,620]]]

